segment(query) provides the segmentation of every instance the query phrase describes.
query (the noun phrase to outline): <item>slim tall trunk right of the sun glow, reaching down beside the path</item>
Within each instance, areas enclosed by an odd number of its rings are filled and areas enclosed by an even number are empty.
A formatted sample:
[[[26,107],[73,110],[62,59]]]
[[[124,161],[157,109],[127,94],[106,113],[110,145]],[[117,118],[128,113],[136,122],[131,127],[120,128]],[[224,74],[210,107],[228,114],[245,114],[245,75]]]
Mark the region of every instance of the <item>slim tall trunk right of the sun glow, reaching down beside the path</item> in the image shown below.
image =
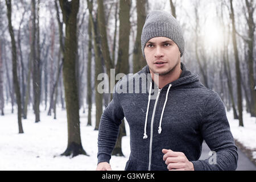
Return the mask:
[[[231,9],[230,18],[232,19],[233,48],[234,48],[234,56],[236,60],[237,105],[238,105],[238,113],[239,113],[238,119],[239,119],[239,126],[243,126],[241,72],[240,72],[240,60],[239,60],[238,49],[237,49],[236,24],[234,19],[233,0],[230,0],[230,9]]]

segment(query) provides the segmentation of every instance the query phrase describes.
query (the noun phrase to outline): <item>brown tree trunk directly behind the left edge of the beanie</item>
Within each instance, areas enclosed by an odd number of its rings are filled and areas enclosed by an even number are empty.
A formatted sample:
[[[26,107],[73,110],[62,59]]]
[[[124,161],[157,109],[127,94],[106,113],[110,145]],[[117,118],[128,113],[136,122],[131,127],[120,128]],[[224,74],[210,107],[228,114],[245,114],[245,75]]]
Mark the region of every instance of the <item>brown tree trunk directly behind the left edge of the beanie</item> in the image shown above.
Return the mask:
[[[137,34],[133,49],[133,73],[139,72],[147,63],[141,51],[141,33],[146,20],[146,0],[136,1]]]

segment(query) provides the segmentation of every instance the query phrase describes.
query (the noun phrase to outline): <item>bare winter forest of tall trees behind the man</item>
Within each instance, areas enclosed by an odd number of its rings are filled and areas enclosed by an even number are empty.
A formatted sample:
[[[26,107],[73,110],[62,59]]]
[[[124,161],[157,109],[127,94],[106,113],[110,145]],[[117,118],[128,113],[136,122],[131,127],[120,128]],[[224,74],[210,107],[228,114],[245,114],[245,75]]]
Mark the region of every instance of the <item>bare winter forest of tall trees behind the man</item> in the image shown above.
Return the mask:
[[[183,29],[181,61],[219,94],[243,127],[243,111],[256,116],[255,9],[255,0],[0,0],[0,120],[11,105],[22,134],[28,110],[37,123],[42,110],[57,119],[56,107],[61,107],[68,129],[61,155],[88,155],[79,111],[88,113],[88,126],[95,117],[98,130],[112,100],[111,93],[97,91],[98,75],[141,70],[146,16],[164,10]],[[123,155],[125,135],[122,122],[112,155]]]

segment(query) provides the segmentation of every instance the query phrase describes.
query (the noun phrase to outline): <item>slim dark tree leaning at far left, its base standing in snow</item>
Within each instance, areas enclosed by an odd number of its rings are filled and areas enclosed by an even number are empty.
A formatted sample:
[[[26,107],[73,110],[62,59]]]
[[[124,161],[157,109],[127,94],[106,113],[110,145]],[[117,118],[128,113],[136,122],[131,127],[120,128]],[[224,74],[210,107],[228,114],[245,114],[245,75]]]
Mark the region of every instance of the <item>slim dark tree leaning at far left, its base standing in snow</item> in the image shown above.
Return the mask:
[[[20,98],[20,88],[19,88],[19,80],[17,75],[17,55],[16,55],[16,42],[14,38],[14,30],[13,30],[13,24],[11,22],[11,0],[6,0],[6,6],[7,6],[7,18],[8,18],[8,27],[9,27],[9,33],[11,36],[11,57],[12,57],[12,63],[13,63],[13,84],[15,88],[15,94],[16,94],[16,102],[18,105],[18,126],[19,126],[19,134],[24,133],[23,127],[22,127],[22,107],[21,107],[21,98]]]

